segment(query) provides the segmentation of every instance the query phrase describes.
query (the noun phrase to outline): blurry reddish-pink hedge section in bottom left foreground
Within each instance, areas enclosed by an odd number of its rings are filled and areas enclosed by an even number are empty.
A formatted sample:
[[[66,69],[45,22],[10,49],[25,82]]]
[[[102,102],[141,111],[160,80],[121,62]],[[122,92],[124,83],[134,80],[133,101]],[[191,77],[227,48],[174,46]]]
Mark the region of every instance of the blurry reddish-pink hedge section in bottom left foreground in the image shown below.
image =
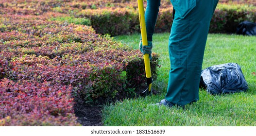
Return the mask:
[[[0,126],[79,126],[72,86],[20,80],[0,82]]]

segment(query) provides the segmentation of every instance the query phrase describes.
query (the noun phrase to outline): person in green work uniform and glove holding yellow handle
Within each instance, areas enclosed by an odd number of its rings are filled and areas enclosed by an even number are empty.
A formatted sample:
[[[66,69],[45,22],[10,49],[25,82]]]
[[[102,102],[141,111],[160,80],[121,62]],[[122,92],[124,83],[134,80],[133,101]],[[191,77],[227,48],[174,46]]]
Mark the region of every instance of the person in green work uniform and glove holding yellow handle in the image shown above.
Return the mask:
[[[139,43],[151,57],[154,27],[161,0],[147,0],[145,11],[148,46]],[[199,100],[199,82],[209,25],[219,0],[171,0],[173,23],[169,37],[171,69],[167,93],[157,105],[182,106]]]

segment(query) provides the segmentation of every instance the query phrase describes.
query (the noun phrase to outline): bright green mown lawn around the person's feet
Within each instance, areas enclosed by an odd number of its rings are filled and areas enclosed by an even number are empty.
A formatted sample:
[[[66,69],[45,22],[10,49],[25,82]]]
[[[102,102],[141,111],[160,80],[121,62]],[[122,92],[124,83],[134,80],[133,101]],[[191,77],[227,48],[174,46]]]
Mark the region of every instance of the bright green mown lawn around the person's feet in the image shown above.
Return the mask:
[[[139,34],[115,37],[137,49]],[[154,106],[166,93],[170,69],[168,33],[154,34],[153,52],[160,54],[161,68],[153,87],[161,93],[146,98],[127,99],[105,105],[104,126],[256,126],[256,38],[255,36],[209,34],[203,68],[224,63],[238,63],[249,85],[246,92],[210,95],[200,89],[200,100],[185,110]]]

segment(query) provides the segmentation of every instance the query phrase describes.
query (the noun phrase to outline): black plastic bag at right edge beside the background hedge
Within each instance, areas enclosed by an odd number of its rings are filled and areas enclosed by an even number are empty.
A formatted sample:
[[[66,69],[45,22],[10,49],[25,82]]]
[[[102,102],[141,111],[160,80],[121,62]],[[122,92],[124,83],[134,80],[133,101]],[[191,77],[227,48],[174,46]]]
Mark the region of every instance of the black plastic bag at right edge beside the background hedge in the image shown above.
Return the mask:
[[[256,23],[243,21],[237,27],[237,34],[256,35]]]

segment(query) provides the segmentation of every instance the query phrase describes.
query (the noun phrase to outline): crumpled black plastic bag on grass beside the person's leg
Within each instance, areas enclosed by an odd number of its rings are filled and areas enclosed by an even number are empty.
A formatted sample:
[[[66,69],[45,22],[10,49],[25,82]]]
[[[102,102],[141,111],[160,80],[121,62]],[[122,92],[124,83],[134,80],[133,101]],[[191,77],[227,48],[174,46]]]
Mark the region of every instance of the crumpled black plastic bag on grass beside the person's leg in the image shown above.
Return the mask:
[[[241,92],[248,84],[237,63],[215,65],[202,70],[200,85],[210,94]]]

